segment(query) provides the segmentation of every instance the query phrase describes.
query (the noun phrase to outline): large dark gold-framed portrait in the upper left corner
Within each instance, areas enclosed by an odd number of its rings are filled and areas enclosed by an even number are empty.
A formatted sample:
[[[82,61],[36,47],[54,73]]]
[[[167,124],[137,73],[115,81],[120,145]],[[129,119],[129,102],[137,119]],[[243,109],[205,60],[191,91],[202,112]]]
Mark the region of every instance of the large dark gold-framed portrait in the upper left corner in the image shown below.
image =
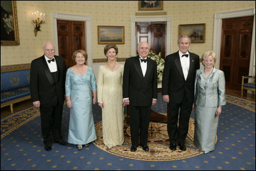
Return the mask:
[[[16,1],[1,1],[1,45],[19,45]]]

